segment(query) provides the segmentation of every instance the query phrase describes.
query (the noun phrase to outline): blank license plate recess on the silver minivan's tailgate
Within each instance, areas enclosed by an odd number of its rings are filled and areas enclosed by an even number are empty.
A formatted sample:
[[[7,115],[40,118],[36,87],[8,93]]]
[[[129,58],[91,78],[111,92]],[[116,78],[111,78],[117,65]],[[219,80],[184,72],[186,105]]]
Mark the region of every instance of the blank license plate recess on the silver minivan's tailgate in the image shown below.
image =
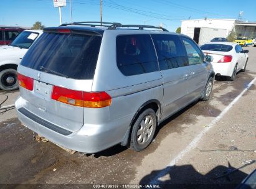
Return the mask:
[[[35,82],[34,93],[39,94],[45,99],[49,99],[52,94],[52,85],[43,83],[41,81],[36,81],[36,80],[34,82]]]

